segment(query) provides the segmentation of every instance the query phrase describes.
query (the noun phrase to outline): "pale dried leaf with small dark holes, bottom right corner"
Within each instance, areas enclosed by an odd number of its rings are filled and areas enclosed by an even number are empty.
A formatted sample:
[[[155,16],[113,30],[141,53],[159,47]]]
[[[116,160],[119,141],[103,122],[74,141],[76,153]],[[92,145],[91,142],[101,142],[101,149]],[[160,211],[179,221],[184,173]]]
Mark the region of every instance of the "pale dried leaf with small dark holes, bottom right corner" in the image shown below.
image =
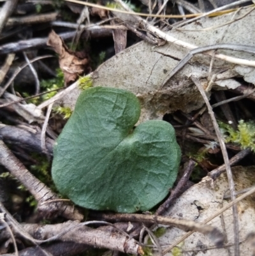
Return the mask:
[[[233,167],[233,177],[235,181],[236,191],[249,188],[254,185],[254,171],[255,167]],[[222,174],[214,183],[214,188],[210,186],[210,179],[205,177],[200,183],[195,184],[189,190],[184,192],[181,197],[171,206],[167,216],[172,218],[184,218],[188,220],[195,220],[196,222],[203,222],[210,216],[214,215],[221,206],[221,199],[225,192],[228,192],[228,178],[226,174]],[[240,241],[247,237],[247,234],[255,230],[255,197],[252,195],[247,199],[238,203],[238,217]],[[229,203],[229,200],[223,200],[223,206]],[[223,213],[224,223],[226,228],[226,236],[228,243],[233,244],[233,216],[232,209],[228,209]],[[220,216],[217,216],[208,223],[214,227],[222,229]],[[159,238],[160,243],[172,245],[185,234],[182,230],[171,228],[167,229],[166,233]],[[203,248],[203,251],[198,252],[198,255],[212,256],[212,255],[228,255],[228,248],[215,248],[214,250],[207,250],[208,247],[214,246],[207,237],[194,233],[184,240],[181,246],[182,250],[197,250]],[[233,246],[230,246],[231,255],[233,255]],[[167,256],[171,253],[167,253]],[[251,255],[251,245],[244,241],[240,244],[240,255]]]

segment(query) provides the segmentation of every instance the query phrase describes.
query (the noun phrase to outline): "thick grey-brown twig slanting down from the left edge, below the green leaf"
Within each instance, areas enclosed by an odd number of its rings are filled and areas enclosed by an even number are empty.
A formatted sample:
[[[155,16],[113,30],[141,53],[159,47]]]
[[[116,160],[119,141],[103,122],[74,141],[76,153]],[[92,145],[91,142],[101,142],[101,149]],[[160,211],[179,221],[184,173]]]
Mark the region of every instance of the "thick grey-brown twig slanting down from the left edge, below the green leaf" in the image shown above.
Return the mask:
[[[82,220],[84,217],[73,206],[65,204],[64,202],[56,202],[40,206],[41,202],[47,200],[58,199],[57,195],[53,193],[50,188],[41,183],[39,179],[33,176],[25,168],[25,166],[14,156],[14,154],[6,147],[4,142],[0,140],[0,163],[8,169],[13,176],[24,184],[24,186],[31,192],[34,198],[38,201],[38,210],[43,211],[45,218],[52,215],[62,215],[71,220]]]

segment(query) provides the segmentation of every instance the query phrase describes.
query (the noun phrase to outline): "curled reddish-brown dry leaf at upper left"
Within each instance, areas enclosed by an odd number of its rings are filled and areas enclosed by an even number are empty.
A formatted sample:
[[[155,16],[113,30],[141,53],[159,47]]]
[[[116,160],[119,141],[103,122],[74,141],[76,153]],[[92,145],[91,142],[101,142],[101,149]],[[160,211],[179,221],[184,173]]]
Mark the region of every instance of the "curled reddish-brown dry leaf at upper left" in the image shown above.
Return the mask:
[[[89,57],[84,52],[73,52],[69,50],[62,38],[51,31],[48,35],[47,45],[51,46],[59,54],[59,66],[64,73],[64,82],[68,85],[77,80],[78,75],[90,71]]]

